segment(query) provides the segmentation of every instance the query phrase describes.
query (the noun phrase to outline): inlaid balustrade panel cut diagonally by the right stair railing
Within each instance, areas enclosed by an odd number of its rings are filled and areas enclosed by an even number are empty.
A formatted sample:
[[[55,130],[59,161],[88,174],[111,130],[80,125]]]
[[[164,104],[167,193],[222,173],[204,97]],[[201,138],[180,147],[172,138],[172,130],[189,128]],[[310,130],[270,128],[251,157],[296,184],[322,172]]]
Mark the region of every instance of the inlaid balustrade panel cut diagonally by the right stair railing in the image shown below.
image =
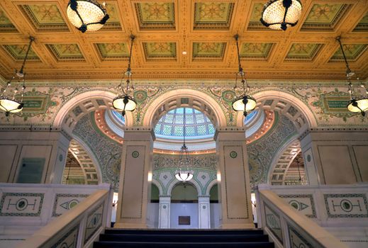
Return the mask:
[[[291,207],[306,215],[308,218],[317,218],[316,205],[314,204],[313,195],[279,195],[284,201],[289,203]]]

